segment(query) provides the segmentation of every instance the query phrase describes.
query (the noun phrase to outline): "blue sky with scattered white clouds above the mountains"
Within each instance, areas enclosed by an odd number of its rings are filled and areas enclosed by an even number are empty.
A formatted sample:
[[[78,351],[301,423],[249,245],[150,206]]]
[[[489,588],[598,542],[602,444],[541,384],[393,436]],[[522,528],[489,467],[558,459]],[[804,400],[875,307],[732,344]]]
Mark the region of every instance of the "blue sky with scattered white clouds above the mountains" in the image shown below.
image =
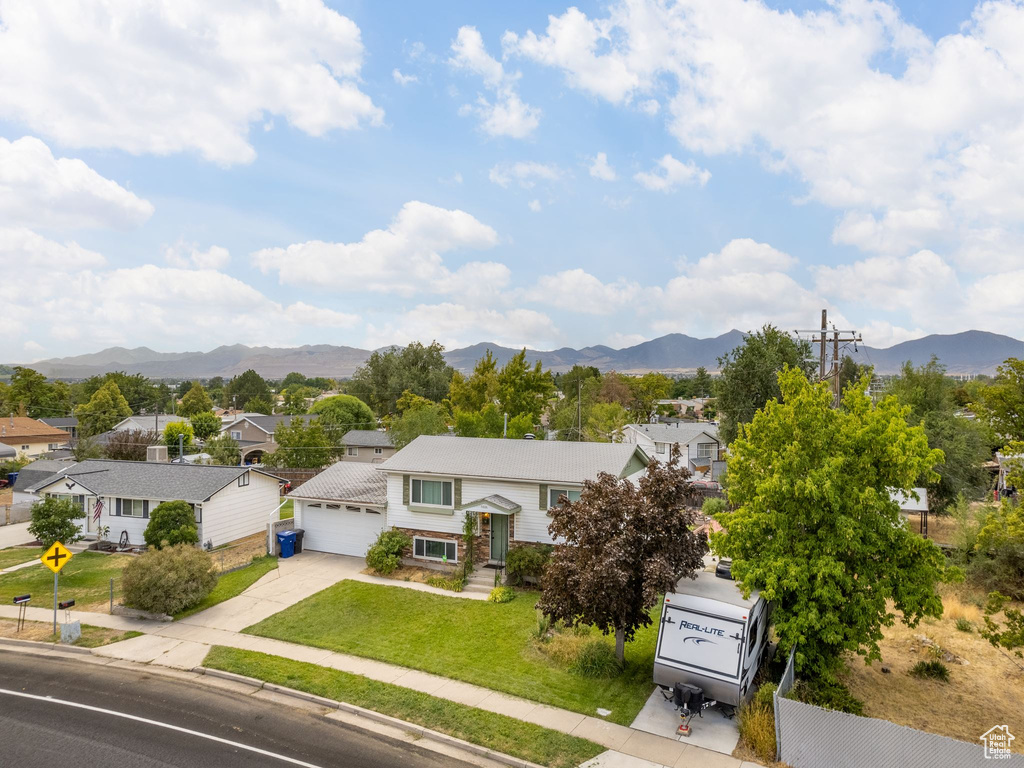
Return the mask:
[[[0,360],[1022,335],[1009,0],[132,7],[0,0]]]

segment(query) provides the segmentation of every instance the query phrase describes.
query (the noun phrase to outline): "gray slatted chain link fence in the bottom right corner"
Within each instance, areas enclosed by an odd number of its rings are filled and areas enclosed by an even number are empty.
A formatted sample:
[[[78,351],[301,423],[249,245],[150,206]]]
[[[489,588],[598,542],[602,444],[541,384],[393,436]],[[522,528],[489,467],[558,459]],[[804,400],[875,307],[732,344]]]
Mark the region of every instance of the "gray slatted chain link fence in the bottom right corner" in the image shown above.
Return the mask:
[[[793,768],[1024,768],[1024,755],[997,762],[986,758],[981,740],[957,741],[786,698],[795,680],[794,656],[791,650],[774,697],[776,757]],[[956,717],[952,702],[949,717]]]

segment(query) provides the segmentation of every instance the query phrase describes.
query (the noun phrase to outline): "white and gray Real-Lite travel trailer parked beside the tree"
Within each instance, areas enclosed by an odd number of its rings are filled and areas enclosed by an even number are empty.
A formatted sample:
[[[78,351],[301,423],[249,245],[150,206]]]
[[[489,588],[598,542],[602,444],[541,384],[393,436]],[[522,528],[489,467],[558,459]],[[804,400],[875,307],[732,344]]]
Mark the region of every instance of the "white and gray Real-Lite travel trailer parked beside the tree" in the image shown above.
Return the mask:
[[[654,656],[654,683],[701,688],[707,699],[738,707],[754,692],[768,648],[768,603],[744,598],[731,579],[701,571],[665,596]]]

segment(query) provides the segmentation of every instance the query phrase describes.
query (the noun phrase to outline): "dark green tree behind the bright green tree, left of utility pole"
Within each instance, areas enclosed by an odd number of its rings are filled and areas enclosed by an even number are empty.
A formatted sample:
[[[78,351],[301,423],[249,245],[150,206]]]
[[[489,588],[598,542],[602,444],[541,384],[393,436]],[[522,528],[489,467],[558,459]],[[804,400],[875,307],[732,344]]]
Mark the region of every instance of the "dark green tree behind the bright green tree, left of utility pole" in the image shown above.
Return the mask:
[[[778,398],[778,373],[783,368],[788,366],[810,375],[815,367],[810,354],[811,347],[806,341],[766,325],[720,357],[722,375],[715,406],[722,440],[732,442],[740,424],[753,419],[766,402]]]

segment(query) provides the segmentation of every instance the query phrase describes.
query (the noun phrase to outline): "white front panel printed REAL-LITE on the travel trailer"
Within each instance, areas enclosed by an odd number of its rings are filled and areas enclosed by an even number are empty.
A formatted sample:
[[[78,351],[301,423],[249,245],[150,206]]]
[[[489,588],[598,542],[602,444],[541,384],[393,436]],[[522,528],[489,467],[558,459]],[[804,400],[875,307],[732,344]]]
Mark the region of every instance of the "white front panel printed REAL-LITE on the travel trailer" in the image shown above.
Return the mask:
[[[665,604],[655,662],[739,678],[744,622]]]

